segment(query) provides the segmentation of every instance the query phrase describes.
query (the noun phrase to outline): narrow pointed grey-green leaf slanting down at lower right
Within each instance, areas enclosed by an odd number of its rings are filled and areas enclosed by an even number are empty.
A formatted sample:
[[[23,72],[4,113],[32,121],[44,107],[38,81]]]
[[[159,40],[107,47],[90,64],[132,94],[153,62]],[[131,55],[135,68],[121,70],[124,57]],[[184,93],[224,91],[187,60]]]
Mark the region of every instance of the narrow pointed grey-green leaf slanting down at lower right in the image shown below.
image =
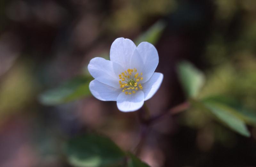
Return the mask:
[[[243,136],[250,137],[250,132],[247,130],[244,121],[234,115],[232,111],[230,111],[230,107],[211,101],[204,101],[203,104],[218,121],[228,126],[233,131]]]

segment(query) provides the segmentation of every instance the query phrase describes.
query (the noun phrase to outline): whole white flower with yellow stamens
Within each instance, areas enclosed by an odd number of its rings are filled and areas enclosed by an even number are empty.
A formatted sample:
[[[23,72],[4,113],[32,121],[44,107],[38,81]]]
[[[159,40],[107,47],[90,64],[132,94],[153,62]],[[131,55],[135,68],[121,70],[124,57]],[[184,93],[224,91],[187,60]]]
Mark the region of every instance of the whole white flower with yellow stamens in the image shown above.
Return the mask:
[[[156,48],[142,42],[117,38],[110,48],[110,60],[93,58],[88,70],[95,78],[89,85],[92,95],[103,101],[116,101],[120,111],[136,111],[160,87],[163,74],[155,73]]]

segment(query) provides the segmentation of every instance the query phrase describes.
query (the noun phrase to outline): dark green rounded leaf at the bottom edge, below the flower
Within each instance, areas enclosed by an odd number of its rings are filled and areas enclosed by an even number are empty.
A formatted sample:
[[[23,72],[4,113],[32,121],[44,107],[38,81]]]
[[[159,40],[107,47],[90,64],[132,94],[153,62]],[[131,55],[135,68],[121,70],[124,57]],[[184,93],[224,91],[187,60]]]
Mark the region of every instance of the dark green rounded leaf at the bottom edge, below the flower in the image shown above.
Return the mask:
[[[76,167],[121,166],[124,152],[107,137],[85,134],[71,139],[66,148],[68,162]]]

